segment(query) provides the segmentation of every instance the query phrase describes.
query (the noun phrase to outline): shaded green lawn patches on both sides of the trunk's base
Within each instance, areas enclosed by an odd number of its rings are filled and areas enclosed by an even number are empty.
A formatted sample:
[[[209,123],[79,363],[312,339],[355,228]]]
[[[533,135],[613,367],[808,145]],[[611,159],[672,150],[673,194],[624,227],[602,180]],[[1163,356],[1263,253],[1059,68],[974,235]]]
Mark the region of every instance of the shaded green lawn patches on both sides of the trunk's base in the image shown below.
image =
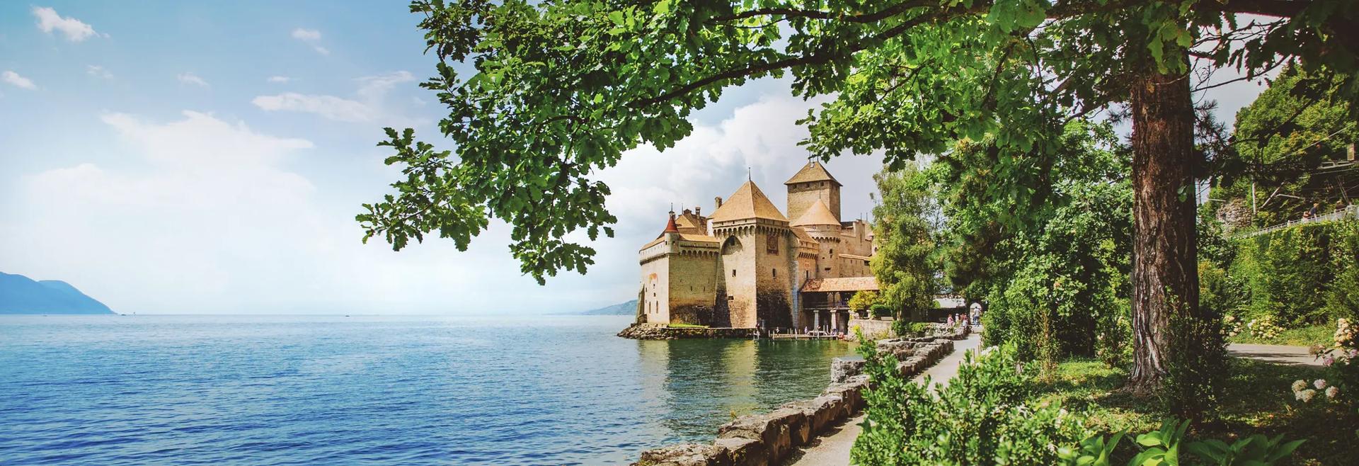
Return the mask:
[[[1321,368],[1233,359],[1230,371],[1220,418],[1205,424],[1196,437],[1231,442],[1241,435],[1282,433],[1286,439],[1309,439],[1294,454],[1295,465],[1356,465],[1359,416],[1318,399],[1302,405],[1290,390],[1292,380],[1320,378]],[[1118,391],[1127,376],[1127,371],[1099,361],[1071,360],[1061,363],[1055,380],[1040,390],[1045,393],[1042,399],[1060,401],[1065,409],[1089,409],[1091,427],[1105,432],[1158,428],[1163,414],[1154,399]]]

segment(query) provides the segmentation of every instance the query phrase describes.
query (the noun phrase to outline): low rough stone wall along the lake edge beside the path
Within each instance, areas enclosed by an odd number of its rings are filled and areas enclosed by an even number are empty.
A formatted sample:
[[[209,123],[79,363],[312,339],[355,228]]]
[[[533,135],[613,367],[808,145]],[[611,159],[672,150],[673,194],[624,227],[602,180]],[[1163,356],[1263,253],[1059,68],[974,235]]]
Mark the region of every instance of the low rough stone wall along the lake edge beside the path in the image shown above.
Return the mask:
[[[900,361],[904,376],[915,376],[953,352],[947,338],[892,338],[878,341],[879,352]],[[712,444],[685,443],[647,450],[633,466],[773,466],[795,447],[810,443],[864,406],[863,359],[837,357],[832,363],[832,383],[811,399],[787,402],[762,414],[746,414],[718,428]]]

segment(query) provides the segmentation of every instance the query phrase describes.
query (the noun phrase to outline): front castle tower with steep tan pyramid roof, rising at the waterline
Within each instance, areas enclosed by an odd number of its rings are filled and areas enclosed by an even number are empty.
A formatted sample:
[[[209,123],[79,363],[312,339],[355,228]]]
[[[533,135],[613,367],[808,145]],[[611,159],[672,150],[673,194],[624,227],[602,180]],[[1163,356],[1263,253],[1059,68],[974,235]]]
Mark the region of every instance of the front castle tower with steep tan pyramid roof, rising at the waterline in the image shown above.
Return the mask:
[[[720,240],[713,322],[792,327],[799,243],[788,219],[746,181],[712,212],[709,224]]]

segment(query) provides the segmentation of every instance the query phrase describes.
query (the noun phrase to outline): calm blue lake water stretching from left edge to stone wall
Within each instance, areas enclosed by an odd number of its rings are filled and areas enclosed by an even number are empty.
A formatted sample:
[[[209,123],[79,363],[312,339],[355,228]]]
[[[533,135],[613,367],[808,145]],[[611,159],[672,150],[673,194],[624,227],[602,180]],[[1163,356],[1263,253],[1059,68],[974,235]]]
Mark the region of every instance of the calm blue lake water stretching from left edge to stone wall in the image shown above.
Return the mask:
[[[625,463],[851,352],[629,319],[0,317],[0,465]]]

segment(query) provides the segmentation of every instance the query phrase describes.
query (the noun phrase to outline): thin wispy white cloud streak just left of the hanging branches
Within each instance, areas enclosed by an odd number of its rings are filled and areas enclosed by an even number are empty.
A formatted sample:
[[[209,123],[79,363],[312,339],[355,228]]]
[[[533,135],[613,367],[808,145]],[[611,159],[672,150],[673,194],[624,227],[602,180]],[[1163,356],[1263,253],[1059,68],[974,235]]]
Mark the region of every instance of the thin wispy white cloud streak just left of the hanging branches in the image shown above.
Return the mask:
[[[359,77],[356,99],[345,99],[334,95],[314,95],[299,92],[284,92],[279,95],[260,95],[250,101],[254,106],[265,111],[302,111],[314,113],[326,120],[345,122],[371,122],[376,120],[405,121],[386,109],[386,95],[393,87],[414,80],[414,76],[405,71],[398,71],[378,76]]]

